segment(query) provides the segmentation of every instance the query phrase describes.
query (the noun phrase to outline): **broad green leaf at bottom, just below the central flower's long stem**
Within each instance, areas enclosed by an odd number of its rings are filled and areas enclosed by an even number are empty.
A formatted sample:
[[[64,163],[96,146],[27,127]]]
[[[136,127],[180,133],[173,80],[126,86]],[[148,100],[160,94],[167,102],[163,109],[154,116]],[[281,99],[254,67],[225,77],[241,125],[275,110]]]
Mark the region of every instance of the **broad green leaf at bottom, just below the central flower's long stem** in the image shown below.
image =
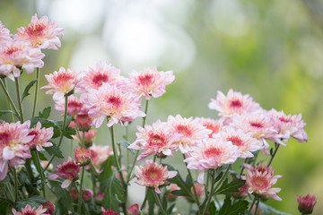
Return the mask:
[[[103,207],[119,212],[120,199],[123,197],[124,189],[116,177],[116,174],[112,174],[112,176],[103,180],[100,184],[100,188],[105,193]]]

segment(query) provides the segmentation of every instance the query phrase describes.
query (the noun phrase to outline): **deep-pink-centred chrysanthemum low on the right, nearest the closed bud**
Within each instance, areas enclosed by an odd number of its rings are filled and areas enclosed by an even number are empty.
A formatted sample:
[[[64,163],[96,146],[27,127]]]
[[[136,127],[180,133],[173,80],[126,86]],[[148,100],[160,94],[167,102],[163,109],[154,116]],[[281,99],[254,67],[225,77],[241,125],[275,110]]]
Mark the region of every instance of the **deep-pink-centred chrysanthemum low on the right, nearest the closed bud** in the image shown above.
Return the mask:
[[[273,198],[277,201],[282,199],[276,194],[281,191],[281,188],[272,188],[277,182],[278,178],[283,176],[274,176],[275,170],[272,167],[267,167],[266,163],[262,167],[261,163],[255,165],[253,168],[249,164],[243,164],[247,169],[247,175],[241,176],[243,180],[246,180],[246,184],[249,187],[249,193],[261,195],[263,198]]]

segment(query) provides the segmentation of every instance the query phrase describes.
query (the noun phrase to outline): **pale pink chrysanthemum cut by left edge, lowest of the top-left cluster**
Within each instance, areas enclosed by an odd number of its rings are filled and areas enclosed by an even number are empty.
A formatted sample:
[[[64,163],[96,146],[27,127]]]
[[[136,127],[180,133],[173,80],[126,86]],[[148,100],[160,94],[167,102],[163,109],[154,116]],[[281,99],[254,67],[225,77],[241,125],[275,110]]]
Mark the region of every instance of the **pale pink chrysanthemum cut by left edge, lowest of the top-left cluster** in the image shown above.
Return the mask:
[[[44,65],[41,60],[44,56],[39,48],[31,47],[25,41],[7,40],[0,46],[0,74],[12,80],[20,76],[21,68],[31,74],[35,67]]]

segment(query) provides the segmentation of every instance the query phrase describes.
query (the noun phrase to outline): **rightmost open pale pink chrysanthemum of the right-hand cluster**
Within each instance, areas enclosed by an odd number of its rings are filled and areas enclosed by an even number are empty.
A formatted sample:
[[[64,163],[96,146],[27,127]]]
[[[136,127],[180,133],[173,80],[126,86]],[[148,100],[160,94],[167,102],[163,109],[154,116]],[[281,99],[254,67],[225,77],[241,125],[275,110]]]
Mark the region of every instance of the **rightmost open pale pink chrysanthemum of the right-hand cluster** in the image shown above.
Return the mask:
[[[278,112],[275,109],[268,111],[268,114],[272,117],[274,129],[278,132],[279,137],[272,141],[285,146],[284,142],[288,141],[291,136],[299,142],[307,142],[309,140],[308,135],[304,131],[306,124],[301,120],[301,114],[286,116],[283,110]]]

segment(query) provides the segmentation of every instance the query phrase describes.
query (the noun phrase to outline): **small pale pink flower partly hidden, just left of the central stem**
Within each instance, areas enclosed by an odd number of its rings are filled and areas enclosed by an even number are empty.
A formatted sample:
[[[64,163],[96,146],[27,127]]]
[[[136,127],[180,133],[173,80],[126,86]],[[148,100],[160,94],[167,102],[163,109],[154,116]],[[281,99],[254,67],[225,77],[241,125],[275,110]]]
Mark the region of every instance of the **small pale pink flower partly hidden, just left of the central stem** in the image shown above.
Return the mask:
[[[90,149],[92,150],[92,164],[94,168],[96,168],[97,171],[99,171],[101,168],[101,164],[109,158],[109,155],[113,153],[113,150],[109,148],[108,145],[101,146],[95,144],[93,144]]]

